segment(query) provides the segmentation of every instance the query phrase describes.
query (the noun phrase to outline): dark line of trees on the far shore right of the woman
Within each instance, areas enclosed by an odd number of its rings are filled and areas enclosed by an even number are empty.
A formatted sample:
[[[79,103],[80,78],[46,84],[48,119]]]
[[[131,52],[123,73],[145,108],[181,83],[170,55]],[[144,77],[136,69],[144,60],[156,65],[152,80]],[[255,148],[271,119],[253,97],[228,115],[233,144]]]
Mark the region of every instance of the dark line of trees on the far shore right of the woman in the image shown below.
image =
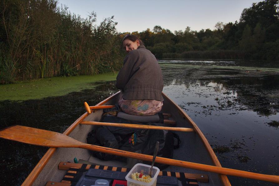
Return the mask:
[[[245,8],[239,22],[218,22],[215,29],[174,31],[155,26],[132,32],[158,58],[279,60],[278,0]]]

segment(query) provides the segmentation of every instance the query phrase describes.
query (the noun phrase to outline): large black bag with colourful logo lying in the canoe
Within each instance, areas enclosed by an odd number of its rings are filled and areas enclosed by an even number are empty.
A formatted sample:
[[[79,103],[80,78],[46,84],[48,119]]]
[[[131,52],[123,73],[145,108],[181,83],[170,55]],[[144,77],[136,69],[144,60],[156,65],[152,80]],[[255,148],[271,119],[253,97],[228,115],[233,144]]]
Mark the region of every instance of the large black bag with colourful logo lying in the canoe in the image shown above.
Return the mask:
[[[140,125],[159,125],[158,123],[136,123],[130,120],[125,120],[116,116],[105,115],[100,122],[109,123],[128,123]],[[174,138],[177,139],[177,144],[174,145]],[[140,154],[153,155],[155,144],[159,141],[159,150],[157,156],[164,158],[172,158],[174,149],[177,149],[180,144],[179,136],[168,130],[148,130],[148,129],[133,129],[112,126],[100,126],[92,130],[87,137],[88,144],[99,145],[114,149],[136,152]],[[91,151],[92,154],[102,160],[117,159],[127,161],[127,158],[118,157],[110,154]],[[138,161],[141,163],[141,161]],[[151,164],[151,162],[143,162]],[[168,165],[154,164],[159,169],[164,169]]]

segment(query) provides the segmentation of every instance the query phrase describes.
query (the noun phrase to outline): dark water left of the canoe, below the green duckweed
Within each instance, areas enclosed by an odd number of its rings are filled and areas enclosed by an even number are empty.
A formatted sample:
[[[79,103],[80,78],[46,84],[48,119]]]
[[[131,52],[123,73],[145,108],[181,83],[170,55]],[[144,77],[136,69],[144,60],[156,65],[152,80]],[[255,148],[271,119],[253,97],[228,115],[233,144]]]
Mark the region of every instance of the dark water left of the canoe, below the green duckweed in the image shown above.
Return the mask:
[[[96,105],[118,91],[114,82],[96,84],[96,89],[42,100],[0,101],[0,129],[24,125],[63,133],[86,112],[84,101]],[[0,139],[0,149],[0,185],[21,185],[48,148]]]

